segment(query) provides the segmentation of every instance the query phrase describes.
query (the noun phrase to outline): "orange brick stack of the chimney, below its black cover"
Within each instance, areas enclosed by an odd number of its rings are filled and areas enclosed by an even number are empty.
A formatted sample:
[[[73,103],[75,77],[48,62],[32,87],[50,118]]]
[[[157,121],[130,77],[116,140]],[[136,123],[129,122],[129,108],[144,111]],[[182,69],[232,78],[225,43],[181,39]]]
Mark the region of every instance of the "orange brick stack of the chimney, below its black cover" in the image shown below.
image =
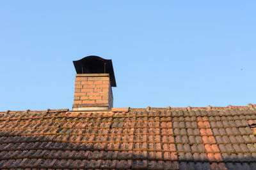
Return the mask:
[[[112,107],[108,73],[76,74],[73,110],[111,110]]]

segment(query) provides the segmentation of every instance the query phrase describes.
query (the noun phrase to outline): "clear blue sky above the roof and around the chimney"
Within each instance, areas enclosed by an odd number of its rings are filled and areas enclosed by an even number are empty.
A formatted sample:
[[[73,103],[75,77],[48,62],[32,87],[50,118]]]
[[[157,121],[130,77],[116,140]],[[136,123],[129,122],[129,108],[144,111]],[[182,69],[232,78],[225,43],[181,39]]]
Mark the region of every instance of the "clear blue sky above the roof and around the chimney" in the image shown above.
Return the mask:
[[[87,55],[115,107],[256,103],[256,1],[0,1],[0,111],[72,108]]]

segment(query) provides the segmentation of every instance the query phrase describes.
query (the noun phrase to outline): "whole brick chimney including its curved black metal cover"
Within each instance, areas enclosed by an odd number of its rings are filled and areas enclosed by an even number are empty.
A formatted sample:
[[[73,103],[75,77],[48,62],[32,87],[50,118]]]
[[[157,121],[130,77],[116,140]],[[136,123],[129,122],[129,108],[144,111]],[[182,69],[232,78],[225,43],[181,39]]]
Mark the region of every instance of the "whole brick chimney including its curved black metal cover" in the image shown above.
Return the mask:
[[[112,60],[91,55],[73,63],[77,73],[73,110],[111,110],[116,87]]]

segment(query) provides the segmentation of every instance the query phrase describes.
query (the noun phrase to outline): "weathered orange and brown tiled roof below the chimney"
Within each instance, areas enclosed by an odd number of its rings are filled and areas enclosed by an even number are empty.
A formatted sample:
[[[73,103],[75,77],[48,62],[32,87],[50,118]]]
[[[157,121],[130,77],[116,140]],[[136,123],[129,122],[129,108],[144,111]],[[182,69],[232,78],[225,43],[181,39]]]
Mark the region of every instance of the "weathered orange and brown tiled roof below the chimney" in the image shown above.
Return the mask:
[[[255,113],[253,104],[0,112],[0,168],[256,169]]]

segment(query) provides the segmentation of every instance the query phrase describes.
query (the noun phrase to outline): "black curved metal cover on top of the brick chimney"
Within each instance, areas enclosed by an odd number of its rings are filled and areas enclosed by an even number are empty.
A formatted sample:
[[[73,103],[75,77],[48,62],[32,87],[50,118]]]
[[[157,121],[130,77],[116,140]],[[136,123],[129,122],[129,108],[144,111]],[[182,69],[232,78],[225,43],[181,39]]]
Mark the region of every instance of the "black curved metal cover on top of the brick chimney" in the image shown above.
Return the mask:
[[[109,73],[111,87],[116,87],[116,80],[112,60],[90,55],[81,60],[74,60],[77,74]]]

